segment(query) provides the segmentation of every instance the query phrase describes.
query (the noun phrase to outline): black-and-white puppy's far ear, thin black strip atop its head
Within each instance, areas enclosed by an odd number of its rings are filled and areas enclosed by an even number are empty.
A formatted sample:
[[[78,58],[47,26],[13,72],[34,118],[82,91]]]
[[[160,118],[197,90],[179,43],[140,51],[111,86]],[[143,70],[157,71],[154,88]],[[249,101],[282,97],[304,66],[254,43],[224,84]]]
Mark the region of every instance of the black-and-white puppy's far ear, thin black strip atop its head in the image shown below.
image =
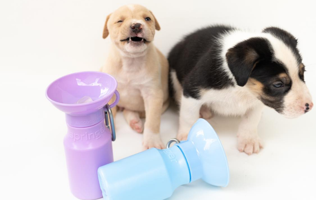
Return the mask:
[[[281,28],[271,26],[265,28],[262,32],[270,33],[278,39],[282,40],[285,44],[290,45],[294,48],[296,48],[297,46],[297,39],[291,33]]]

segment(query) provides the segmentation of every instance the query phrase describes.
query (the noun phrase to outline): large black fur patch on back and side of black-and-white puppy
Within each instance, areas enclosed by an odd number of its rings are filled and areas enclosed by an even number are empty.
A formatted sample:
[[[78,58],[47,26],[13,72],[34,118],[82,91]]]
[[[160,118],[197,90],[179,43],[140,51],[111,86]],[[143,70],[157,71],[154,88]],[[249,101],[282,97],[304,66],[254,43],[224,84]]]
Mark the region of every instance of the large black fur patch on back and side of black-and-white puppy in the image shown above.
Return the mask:
[[[216,39],[234,30],[228,26],[212,26],[186,36],[168,55],[170,70],[175,70],[185,96],[200,98],[199,89],[222,89],[234,85],[222,71],[222,47]],[[170,95],[173,87],[169,84]]]

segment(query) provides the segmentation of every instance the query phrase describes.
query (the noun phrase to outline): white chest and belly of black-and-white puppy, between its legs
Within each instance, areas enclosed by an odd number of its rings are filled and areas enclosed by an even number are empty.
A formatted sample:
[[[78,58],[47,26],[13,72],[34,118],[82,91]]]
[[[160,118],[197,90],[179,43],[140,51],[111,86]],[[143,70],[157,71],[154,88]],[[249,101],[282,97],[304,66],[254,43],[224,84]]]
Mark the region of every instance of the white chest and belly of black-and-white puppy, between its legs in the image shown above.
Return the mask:
[[[247,110],[261,103],[248,90],[240,88],[209,90],[202,99],[212,111],[227,116],[244,115]]]

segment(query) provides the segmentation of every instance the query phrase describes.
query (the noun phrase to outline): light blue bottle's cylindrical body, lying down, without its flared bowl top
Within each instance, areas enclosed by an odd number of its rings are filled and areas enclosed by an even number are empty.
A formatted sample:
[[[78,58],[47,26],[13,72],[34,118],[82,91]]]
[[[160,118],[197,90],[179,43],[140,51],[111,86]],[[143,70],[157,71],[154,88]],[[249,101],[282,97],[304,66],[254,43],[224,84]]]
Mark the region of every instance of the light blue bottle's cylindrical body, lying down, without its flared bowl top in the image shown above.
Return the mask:
[[[190,182],[190,173],[177,147],[151,148],[98,169],[105,200],[161,200]]]

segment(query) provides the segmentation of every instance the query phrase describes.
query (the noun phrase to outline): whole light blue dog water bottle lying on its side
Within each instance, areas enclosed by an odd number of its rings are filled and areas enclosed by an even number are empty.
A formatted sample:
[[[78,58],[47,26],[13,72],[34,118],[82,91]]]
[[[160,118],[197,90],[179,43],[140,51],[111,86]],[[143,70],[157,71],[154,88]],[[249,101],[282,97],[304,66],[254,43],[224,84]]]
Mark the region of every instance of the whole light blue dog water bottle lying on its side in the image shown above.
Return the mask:
[[[199,119],[188,140],[104,165],[98,169],[98,177],[105,200],[163,200],[175,188],[200,178],[225,187],[229,169],[215,130],[206,120]]]

